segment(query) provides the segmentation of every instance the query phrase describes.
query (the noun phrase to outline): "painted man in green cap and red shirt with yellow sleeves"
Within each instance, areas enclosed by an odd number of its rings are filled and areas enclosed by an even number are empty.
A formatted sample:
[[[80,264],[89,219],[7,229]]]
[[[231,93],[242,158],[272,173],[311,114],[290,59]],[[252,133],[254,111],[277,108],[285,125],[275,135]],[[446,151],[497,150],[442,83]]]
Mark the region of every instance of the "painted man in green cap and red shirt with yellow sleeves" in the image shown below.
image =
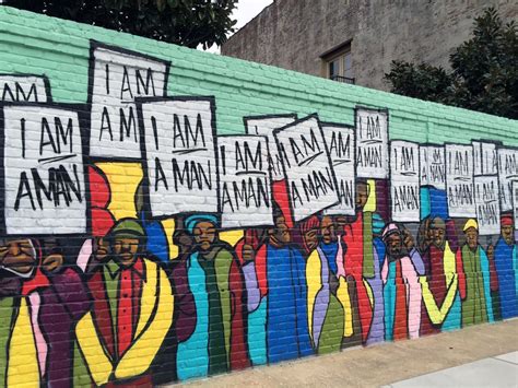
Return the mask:
[[[170,283],[143,251],[137,220],[119,220],[106,239],[110,255],[90,267],[93,308],[76,325],[78,341],[95,385],[151,386],[150,366],[173,321]]]

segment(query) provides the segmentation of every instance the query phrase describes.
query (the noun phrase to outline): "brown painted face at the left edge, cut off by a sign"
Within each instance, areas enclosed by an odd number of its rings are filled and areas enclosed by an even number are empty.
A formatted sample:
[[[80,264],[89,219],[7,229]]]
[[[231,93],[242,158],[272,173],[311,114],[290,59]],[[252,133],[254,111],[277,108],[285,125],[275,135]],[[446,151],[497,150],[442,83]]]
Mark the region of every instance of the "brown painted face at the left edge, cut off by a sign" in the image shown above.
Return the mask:
[[[30,278],[36,267],[36,251],[28,238],[10,239],[0,246],[0,266],[20,278]]]

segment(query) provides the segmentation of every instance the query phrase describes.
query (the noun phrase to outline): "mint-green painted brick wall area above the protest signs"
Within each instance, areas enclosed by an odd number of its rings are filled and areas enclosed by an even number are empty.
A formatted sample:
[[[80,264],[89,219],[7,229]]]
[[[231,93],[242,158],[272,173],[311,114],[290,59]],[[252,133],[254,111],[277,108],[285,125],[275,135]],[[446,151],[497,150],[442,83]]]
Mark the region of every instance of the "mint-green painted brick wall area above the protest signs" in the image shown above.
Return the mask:
[[[391,139],[469,142],[491,138],[518,144],[518,122],[501,117],[346,85],[284,69],[226,58],[128,34],[2,7],[0,72],[45,73],[57,102],[85,103],[90,40],[172,61],[169,95],[214,95],[217,132],[244,132],[243,117],[318,113],[353,124],[355,105],[390,110]],[[368,66],[368,63],[365,63]],[[497,139],[495,139],[497,138]]]

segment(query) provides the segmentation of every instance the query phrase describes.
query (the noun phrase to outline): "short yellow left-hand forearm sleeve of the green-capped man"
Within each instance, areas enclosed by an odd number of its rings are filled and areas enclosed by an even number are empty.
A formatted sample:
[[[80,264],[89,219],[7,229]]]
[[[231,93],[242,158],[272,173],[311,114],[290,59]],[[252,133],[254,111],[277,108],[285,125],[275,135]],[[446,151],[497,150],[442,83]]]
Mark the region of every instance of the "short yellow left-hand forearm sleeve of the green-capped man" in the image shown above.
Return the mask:
[[[75,326],[75,337],[93,381],[96,386],[102,386],[108,383],[114,366],[98,336],[92,313],[89,311]]]

